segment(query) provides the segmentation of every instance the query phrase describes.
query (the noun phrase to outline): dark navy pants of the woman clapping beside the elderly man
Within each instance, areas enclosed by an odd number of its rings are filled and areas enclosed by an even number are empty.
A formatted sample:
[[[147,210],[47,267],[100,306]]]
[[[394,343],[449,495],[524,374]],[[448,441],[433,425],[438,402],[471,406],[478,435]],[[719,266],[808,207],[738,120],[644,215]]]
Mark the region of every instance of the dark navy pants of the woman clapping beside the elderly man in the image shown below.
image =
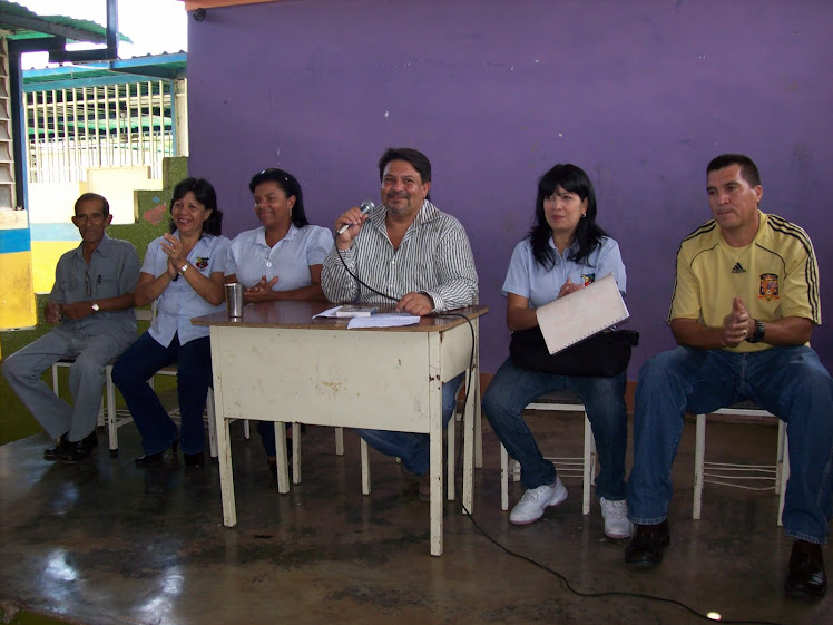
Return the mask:
[[[163,367],[177,363],[176,380],[182,432],[147,383]],[[145,453],[159,453],[180,439],[184,453],[197,453],[205,446],[203,411],[212,384],[210,339],[204,336],[179,344],[174,335],[166,348],[145,332],[127,348],[112,368],[112,381],[121,391],[141,434]]]

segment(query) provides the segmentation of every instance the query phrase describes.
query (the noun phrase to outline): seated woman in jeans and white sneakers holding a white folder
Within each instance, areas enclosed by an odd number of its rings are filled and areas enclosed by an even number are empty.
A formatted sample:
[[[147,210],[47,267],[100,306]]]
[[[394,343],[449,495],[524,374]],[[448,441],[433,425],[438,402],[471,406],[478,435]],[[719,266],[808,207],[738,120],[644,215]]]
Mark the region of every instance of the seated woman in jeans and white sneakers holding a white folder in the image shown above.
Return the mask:
[[[538,325],[535,309],[612,273],[625,293],[619,245],[596,224],[596,194],[587,174],[575,165],[556,165],[538,183],[536,223],[512,253],[503,283],[507,323],[512,332]],[[585,407],[596,438],[601,470],[596,478],[605,534],[630,536],[625,504],[627,446],[626,372],[611,378],[555,375],[516,367],[510,359],[494,374],[483,395],[483,411],[509,455],[521,466],[527,491],[512,509],[516,525],[538,520],[549,506],[567,497],[556,469],[538,449],[523,421],[536,398],[569,389]]]

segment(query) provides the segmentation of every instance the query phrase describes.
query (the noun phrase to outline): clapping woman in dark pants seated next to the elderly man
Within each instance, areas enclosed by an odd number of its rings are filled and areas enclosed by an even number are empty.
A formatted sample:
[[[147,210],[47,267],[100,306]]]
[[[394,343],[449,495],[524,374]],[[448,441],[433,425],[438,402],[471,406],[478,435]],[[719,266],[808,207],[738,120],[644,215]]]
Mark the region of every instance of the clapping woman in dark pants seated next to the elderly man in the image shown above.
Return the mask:
[[[148,245],[136,286],[136,305],[156,302],[150,329],[121,354],[112,381],[121,391],[141,433],[145,453],[136,463],[161,460],[182,442],[185,463],[203,466],[203,411],[212,383],[212,352],[207,326],[195,316],[225,310],[223,279],[228,238],[220,235],[223,213],[217,194],[203,178],[185,178],[174,187],[170,234]],[[180,428],[170,420],[148,379],[177,363]]]

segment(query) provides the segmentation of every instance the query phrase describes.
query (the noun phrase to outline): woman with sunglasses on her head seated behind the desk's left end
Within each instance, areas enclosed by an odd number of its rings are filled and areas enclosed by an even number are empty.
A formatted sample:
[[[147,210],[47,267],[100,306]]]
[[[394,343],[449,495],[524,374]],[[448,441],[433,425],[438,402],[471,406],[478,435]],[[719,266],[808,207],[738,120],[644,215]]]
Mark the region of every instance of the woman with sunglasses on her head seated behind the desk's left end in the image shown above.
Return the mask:
[[[246,287],[243,301],[247,304],[326,301],[321,290],[321,267],[333,248],[333,235],[306,219],[301,184],[283,169],[264,169],[252,177],[248,188],[263,225],[232,241],[226,282]],[[257,431],[270,469],[276,472],[275,427],[271,421],[259,421]]]

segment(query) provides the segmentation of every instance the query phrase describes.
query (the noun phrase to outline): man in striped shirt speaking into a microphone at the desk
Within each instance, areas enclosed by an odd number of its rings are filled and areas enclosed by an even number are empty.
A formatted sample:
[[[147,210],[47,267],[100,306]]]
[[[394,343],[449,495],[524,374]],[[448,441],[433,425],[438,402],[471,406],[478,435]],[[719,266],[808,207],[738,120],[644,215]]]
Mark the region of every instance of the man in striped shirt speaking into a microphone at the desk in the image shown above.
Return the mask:
[[[363,215],[354,206],[340,216],[335,246],[324,260],[321,285],[331,302],[390,304],[414,315],[473,304],[478,275],[462,224],[431,204],[431,162],[412,148],[390,148],[379,160],[382,205]],[[442,389],[444,422],[453,412],[462,375]],[[367,443],[398,456],[420,476],[428,500],[428,436],[359,430]]]

